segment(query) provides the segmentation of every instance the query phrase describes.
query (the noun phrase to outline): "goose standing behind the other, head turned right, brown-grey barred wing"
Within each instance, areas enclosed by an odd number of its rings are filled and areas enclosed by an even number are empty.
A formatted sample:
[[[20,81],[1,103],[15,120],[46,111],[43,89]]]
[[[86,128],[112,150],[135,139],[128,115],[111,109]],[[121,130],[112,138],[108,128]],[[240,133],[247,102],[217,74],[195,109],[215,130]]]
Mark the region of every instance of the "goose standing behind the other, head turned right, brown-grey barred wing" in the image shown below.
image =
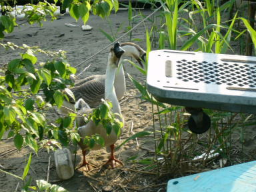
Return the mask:
[[[123,53],[123,56],[130,56],[135,58],[139,65],[143,67],[143,64],[141,63],[141,60],[145,61],[145,55],[146,52],[139,47],[139,45],[135,43],[121,43],[121,48],[125,50],[125,53]],[[120,63],[122,61],[122,58],[120,59]],[[71,91],[75,95],[76,101],[78,99],[83,99],[90,107],[98,107],[101,103],[101,99],[104,98],[105,93],[105,75],[91,75],[90,77],[87,77],[85,79],[82,79],[75,83],[75,87],[71,88]],[[123,71],[123,67],[120,67],[120,69],[117,70],[117,73],[115,73],[115,93],[117,95],[117,99],[120,100],[121,97],[123,97],[126,89],[125,85],[125,73]],[[71,109],[74,111],[74,104],[75,101],[72,101],[71,98],[69,98],[68,101],[63,102],[63,107],[59,110],[62,114],[67,114]]]

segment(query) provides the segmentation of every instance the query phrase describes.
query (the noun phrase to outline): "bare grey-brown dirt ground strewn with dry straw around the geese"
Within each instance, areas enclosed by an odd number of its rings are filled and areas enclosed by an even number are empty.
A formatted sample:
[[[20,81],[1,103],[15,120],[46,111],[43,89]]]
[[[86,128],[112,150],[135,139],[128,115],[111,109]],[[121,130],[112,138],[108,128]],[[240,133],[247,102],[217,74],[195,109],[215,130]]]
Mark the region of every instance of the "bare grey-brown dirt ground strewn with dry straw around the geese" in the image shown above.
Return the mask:
[[[151,11],[143,11],[144,15],[149,15],[149,13],[151,13]],[[82,31],[81,25],[83,25],[83,23],[81,21],[75,23],[74,19],[67,14],[60,16],[59,19],[53,23],[43,23],[43,27],[38,27],[37,25],[31,26],[25,23],[21,25],[21,27],[16,27],[15,31],[7,35],[3,42],[11,41],[17,45],[22,45],[23,43],[31,46],[39,45],[41,49],[49,49],[52,51],[62,49],[67,51],[69,63],[75,66],[110,43],[99,29],[103,29],[109,33],[111,29],[115,32],[119,27],[122,27],[122,30],[117,33],[117,37],[120,37],[123,35],[123,31],[125,31],[125,27],[129,25],[127,17],[127,11],[119,11],[117,14],[112,14],[109,17],[109,22],[106,22],[100,17],[91,15],[87,24],[91,25],[93,29],[91,31]],[[17,22],[23,23],[21,20]],[[79,25],[79,27],[67,27],[65,23],[72,23]],[[144,25],[140,25],[133,31],[131,40],[129,39],[129,35],[127,35],[123,37],[120,42],[132,41],[146,49],[145,26],[149,26],[150,24],[149,21],[145,21]],[[133,39],[141,39],[141,41],[137,42],[133,41]],[[88,63],[80,65],[77,68],[77,73],[91,64],[79,78],[82,79],[89,75],[105,73],[108,51],[107,49],[93,57]],[[11,59],[17,57],[19,57],[19,55],[14,51],[5,51],[5,49],[0,48],[1,64],[8,63]],[[39,61],[44,61],[41,55],[39,55]],[[135,79],[145,82],[145,76],[141,75],[141,73],[129,63],[125,64],[127,92],[120,101],[121,111],[125,119],[125,127],[123,128],[120,140],[117,141],[117,145],[134,133],[153,130],[151,104],[141,101],[140,94],[127,77],[127,73],[132,75]],[[51,116],[53,116],[54,119],[54,117],[57,117],[57,114],[51,113]],[[248,148],[249,151],[247,154],[255,154],[253,153],[255,150],[253,150],[254,148],[252,147],[256,144],[255,126],[247,129],[247,134],[245,135],[247,135],[248,141],[248,145],[245,146],[245,149]],[[145,160],[152,158],[154,151],[153,136],[138,139],[137,141],[129,141],[116,151],[118,159],[121,159],[124,163],[123,167],[117,167],[116,169],[106,169],[102,167],[109,156],[109,153],[107,153],[105,149],[91,151],[89,155],[87,155],[87,160],[97,165],[97,169],[93,169],[89,173],[85,173],[81,170],[75,171],[75,175],[71,179],[61,181],[56,174],[53,152],[48,154],[47,151],[41,150],[38,155],[33,155],[29,174],[33,179],[33,185],[35,185],[36,179],[47,179],[47,169],[49,167],[49,182],[65,187],[65,189],[71,192],[101,191],[104,186],[113,187],[113,191],[166,191],[167,181],[172,179],[173,175],[157,178],[156,172],[148,171],[150,165],[147,166],[145,163],[143,165],[138,163],[141,159],[145,162]],[[12,139],[1,140],[1,169],[21,176],[30,152],[30,149],[27,147],[21,149],[21,151],[15,150]],[[48,166],[49,157],[51,157],[50,166]],[[81,157],[81,150],[78,151],[78,157]],[[250,155],[247,161],[253,158],[256,158],[255,155]],[[135,161],[131,161],[131,159],[135,159]],[[79,161],[81,161],[81,158],[77,158],[77,163],[79,163]],[[239,161],[237,163],[239,163]],[[18,183],[22,185],[19,179],[0,172],[0,191],[15,191]],[[18,187],[18,189],[20,188],[21,187]]]

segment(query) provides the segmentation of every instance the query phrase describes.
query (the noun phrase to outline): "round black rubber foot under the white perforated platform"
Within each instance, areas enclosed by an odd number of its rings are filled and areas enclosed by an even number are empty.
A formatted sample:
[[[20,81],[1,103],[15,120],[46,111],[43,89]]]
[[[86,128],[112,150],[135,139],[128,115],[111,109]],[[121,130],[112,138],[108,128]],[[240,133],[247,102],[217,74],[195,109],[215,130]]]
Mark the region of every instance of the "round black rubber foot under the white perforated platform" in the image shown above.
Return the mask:
[[[211,119],[210,117],[204,113],[203,113],[203,123],[199,123],[203,126],[198,127],[197,123],[195,123],[195,120],[193,119],[192,116],[189,117],[189,121],[188,121],[188,125],[189,125],[189,129],[192,131],[192,133],[196,133],[196,134],[202,134],[205,133],[206,131],[208,131],[208,129],[211,127]]]

